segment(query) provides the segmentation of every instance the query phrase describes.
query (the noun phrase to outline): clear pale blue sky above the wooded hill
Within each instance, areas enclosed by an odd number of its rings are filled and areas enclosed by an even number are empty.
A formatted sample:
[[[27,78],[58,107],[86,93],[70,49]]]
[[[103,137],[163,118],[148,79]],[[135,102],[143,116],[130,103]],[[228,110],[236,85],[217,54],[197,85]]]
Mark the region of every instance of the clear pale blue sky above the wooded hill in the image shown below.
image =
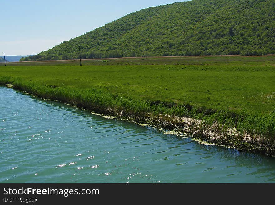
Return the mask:
[[[1,0],[0,56],[38,54],[126,14],[183,1]]]

